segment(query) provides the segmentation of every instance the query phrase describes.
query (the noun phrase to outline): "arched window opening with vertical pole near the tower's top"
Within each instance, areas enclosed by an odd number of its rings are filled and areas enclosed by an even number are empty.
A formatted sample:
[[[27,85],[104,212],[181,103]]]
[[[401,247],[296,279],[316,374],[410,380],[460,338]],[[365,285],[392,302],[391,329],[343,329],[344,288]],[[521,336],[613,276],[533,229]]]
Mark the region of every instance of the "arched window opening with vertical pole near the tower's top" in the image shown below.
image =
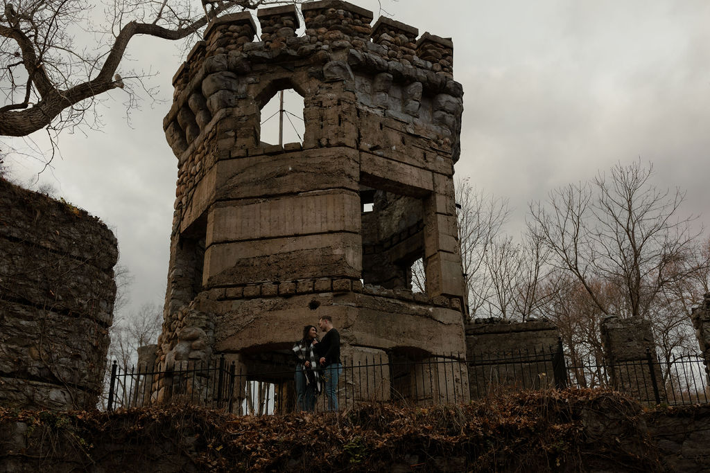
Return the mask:
[[[276,92],[261,109],[261,143],[303,143],[303,97],[293,89]]]

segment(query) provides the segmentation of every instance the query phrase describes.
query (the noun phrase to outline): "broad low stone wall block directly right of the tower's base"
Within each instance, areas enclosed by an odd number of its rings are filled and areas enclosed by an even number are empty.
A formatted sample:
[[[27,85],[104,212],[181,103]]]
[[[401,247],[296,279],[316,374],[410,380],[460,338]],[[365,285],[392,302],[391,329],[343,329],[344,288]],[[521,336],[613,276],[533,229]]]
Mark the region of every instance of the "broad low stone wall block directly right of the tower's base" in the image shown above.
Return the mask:
[[[471,399],[501,386],[555,386],[554,355],[559,331],[548,321],[511,323],[497,318],[466,325]]]

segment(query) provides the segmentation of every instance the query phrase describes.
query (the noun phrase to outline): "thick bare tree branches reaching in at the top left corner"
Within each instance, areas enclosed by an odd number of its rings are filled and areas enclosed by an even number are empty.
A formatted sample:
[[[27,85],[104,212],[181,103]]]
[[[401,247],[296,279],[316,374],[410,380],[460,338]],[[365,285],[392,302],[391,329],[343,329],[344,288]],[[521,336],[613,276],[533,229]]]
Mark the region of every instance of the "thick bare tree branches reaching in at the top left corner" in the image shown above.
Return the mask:
[[[97,20],[97,5],[87,0],[2,0],[0,10],[0,135],[26,136],[47,128],[87,123],[97,96],[115,88],[129,92],[142,73],[119,65],[138,35],[181,40],[210,17],[227,11],[303,0],[114,0]],[[85,45],[76,38],[84,38]],[[130,106],[130,105],[129,105]],[[89,123],[91,125],[91,123]]]

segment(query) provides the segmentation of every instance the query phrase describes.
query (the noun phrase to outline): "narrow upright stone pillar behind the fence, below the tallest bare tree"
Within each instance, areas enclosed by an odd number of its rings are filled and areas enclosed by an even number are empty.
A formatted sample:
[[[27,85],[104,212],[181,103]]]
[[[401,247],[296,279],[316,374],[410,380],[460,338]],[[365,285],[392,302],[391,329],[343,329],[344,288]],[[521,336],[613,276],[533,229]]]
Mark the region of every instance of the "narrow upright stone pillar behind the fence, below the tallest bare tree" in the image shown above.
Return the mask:
[[[655,404],[657,401],[665,401],[660,364],[649,321],[608,316],[601,322],[601,343],[613,389],[623,391],[641,402]]]

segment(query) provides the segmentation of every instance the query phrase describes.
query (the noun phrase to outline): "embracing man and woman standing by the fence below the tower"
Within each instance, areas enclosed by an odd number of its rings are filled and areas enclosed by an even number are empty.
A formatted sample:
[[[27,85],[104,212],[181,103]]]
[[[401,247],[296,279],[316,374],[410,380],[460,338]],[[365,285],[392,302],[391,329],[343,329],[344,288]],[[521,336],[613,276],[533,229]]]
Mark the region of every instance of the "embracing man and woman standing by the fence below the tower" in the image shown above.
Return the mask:
[[[296,408],[299,411],[313,411],[316,396],[321,390],[328,399],[328,411],[338,410],[338,378],[342,372],[340,334],[333,327],[330,316],[322,316],[318,327],[325,333],[320,342],[315,326],[306,325],[303,337],[293,345],[293,352],[298,358]]]

